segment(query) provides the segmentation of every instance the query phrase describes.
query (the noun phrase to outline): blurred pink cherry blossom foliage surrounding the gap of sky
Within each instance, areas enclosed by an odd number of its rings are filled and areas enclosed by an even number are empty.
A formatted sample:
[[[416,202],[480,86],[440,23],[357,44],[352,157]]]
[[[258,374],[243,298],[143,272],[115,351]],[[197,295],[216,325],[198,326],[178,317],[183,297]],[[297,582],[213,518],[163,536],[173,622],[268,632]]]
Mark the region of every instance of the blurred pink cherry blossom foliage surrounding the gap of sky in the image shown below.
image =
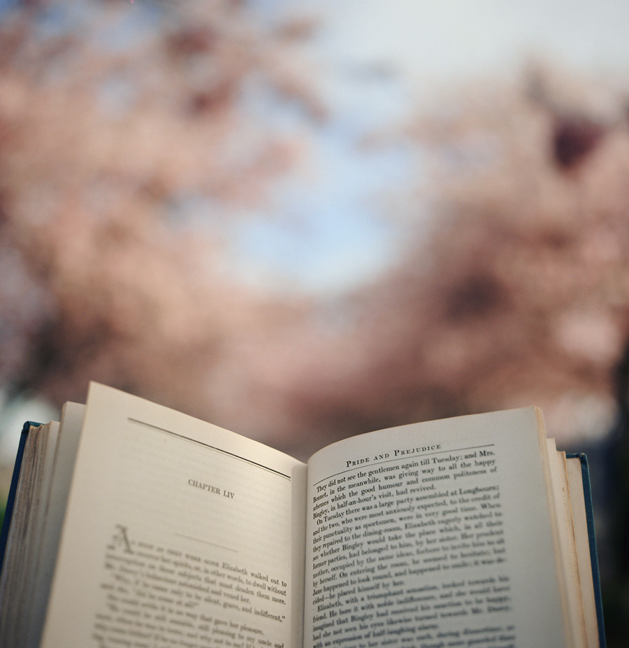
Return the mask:
[[[95,379],[301,455],[530,402],[563,439],[603,435],[628,334],[622,80],[542,66],[373,132],[366,154],[397,140],[424,160],[379,197],[406,232],[398,263],[333,298],[280,297],[226,274],[225,226],[273,218],[326,120],[311,27],[226,0],[6,14],[3,386],[59,404]]]

